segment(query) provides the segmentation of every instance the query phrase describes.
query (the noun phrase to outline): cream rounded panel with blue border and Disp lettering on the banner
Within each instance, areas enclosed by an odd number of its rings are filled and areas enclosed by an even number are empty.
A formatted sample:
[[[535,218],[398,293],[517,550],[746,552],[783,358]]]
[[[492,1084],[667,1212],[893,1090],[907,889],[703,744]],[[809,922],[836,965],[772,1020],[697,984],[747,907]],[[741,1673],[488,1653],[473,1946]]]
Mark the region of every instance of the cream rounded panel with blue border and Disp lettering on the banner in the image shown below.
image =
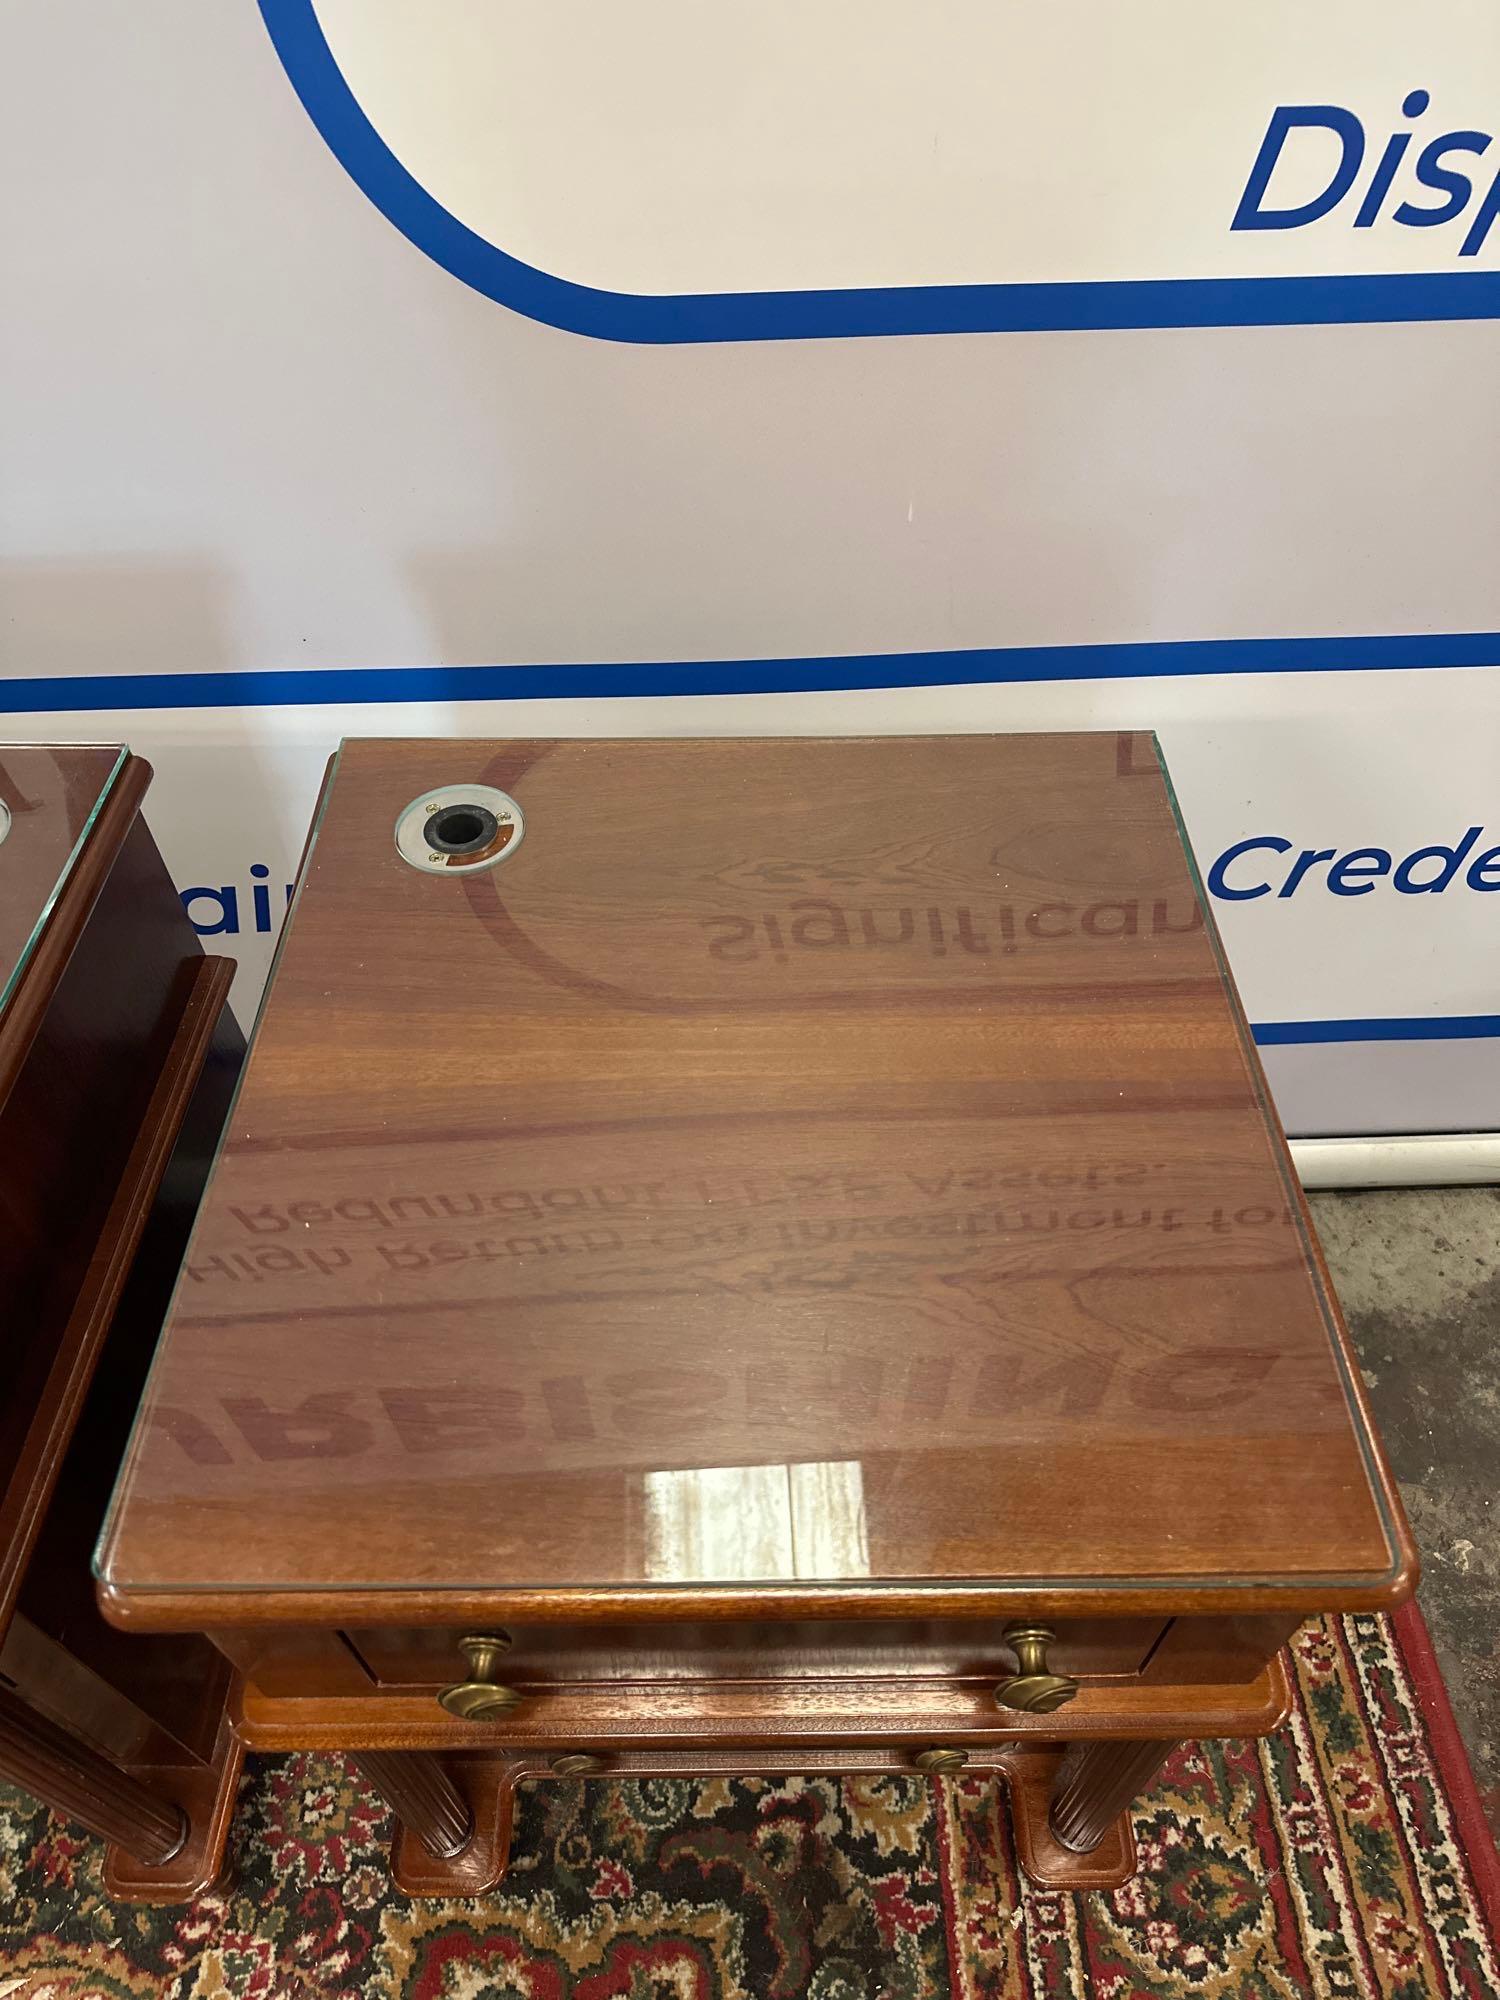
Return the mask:
[[[582,332],[1392,318],[1496,284],[1484,0],[262,8],[390,220]]]

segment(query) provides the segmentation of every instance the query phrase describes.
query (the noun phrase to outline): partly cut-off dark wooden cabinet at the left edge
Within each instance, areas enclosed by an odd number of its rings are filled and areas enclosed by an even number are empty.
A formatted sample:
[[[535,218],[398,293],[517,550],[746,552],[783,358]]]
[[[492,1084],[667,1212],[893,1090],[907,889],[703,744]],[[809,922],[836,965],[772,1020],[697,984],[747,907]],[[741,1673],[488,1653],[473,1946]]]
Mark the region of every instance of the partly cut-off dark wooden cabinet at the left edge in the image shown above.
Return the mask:
[[[122,1638],[90,1550],[242,1042],[118,744],[0,746],[0,1774],[114,1842],[120,1894],[214,1878],[240,1744],[206,1640]]]

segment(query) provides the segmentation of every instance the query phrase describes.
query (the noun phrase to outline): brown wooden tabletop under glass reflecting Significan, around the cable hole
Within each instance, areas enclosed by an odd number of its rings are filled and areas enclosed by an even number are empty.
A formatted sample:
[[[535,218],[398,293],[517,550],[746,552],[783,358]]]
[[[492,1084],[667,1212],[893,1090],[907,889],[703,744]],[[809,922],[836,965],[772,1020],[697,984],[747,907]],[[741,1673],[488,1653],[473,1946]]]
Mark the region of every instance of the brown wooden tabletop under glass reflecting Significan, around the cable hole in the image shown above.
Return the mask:
[[[1152,738],[344,744],[100,1574],[1404,1594]]]

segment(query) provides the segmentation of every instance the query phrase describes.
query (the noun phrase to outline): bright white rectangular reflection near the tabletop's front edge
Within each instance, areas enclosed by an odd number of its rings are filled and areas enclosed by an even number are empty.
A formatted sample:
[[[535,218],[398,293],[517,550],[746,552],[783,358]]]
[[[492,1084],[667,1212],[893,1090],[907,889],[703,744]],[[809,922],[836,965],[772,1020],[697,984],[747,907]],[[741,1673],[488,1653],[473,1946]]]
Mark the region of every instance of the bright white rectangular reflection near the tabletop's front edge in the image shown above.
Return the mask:
[[[646,1576],[652,1582],[868,1574],[870,1534],[858,1458],[646,1474]]]

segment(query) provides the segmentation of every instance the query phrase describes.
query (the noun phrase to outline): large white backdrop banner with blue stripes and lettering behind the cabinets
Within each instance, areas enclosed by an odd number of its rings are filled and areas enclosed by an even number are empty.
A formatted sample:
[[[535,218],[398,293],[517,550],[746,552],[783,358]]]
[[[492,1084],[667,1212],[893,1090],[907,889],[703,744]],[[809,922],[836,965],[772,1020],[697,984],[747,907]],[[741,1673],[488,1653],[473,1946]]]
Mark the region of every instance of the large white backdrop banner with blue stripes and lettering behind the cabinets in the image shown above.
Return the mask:
[[[242,1008],[344,734],[1148,726],[1288,1128],[1500,1126],[1492,6],[0,36],[6,734]]]

